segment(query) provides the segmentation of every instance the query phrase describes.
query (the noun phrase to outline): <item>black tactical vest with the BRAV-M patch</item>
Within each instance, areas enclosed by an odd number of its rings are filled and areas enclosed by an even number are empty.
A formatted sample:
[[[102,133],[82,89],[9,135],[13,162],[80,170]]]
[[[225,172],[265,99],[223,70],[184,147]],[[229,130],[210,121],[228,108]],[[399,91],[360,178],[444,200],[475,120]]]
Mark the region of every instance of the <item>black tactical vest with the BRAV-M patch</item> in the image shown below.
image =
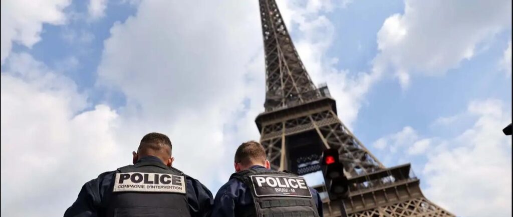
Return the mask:
[[[305,179],[281,171],[248,169],[233,173],[248,186],[254,209],[238,210],[241,217],[319,217]]]

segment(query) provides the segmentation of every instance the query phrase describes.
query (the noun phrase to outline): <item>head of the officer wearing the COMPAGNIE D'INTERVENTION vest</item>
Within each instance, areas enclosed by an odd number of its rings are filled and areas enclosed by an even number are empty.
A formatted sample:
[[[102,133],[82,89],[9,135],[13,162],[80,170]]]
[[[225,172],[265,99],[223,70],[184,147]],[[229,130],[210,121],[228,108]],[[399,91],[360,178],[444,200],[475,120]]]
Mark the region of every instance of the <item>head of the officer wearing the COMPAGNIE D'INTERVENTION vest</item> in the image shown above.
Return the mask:
[[[137,153],[133,154],[133,163],[137,162],[139,158],[144,156],[155,156],[160,158],[164,164],[171,166],[174,158],[171,156],[171,140],[164,134],[149,133],[141,139]]]

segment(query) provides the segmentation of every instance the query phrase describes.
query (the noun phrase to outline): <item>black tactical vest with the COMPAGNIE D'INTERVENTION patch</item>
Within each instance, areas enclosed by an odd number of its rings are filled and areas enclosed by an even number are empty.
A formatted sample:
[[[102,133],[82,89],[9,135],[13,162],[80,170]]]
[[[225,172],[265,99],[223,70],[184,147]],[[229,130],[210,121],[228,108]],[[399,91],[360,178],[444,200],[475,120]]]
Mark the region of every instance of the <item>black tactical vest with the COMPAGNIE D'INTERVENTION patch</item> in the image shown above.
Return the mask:
[[[108,217],[189,217],[183,172],[154,162],[140,162],[115,172],[107,199]]]

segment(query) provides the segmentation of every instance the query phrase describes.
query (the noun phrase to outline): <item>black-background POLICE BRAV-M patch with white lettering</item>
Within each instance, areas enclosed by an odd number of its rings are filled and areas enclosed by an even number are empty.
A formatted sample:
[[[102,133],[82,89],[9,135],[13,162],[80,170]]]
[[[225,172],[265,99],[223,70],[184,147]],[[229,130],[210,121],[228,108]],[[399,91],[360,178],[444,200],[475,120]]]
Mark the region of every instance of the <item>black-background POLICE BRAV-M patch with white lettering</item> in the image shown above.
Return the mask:
[[[250,178],[257,197],[312,197],[302,177],[255,175]]]

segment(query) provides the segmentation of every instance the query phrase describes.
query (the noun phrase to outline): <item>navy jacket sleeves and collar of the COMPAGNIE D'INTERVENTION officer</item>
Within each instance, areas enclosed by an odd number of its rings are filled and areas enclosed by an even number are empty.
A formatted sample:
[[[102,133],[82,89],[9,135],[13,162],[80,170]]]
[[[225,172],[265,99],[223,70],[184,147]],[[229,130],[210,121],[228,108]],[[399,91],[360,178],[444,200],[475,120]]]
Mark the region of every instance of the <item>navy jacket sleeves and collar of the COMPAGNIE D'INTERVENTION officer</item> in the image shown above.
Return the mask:
[[[145,156],[136,162],[160,162],[162,160],[153,156]],[[187,201],[189,203],[189,210],[193,217],[207,217],[212,208],[213,199],[212,193],[200,181],[195,180],[189,176],[185,176],[187,180]],[[113,182],[115,179],[115,171],[104,172],[98,178],[93,179],[82,187],[78,198],[71,205],[64,217],[100,217],[102,216],[101,204],[102,199],[106,194],[111,193]]]

